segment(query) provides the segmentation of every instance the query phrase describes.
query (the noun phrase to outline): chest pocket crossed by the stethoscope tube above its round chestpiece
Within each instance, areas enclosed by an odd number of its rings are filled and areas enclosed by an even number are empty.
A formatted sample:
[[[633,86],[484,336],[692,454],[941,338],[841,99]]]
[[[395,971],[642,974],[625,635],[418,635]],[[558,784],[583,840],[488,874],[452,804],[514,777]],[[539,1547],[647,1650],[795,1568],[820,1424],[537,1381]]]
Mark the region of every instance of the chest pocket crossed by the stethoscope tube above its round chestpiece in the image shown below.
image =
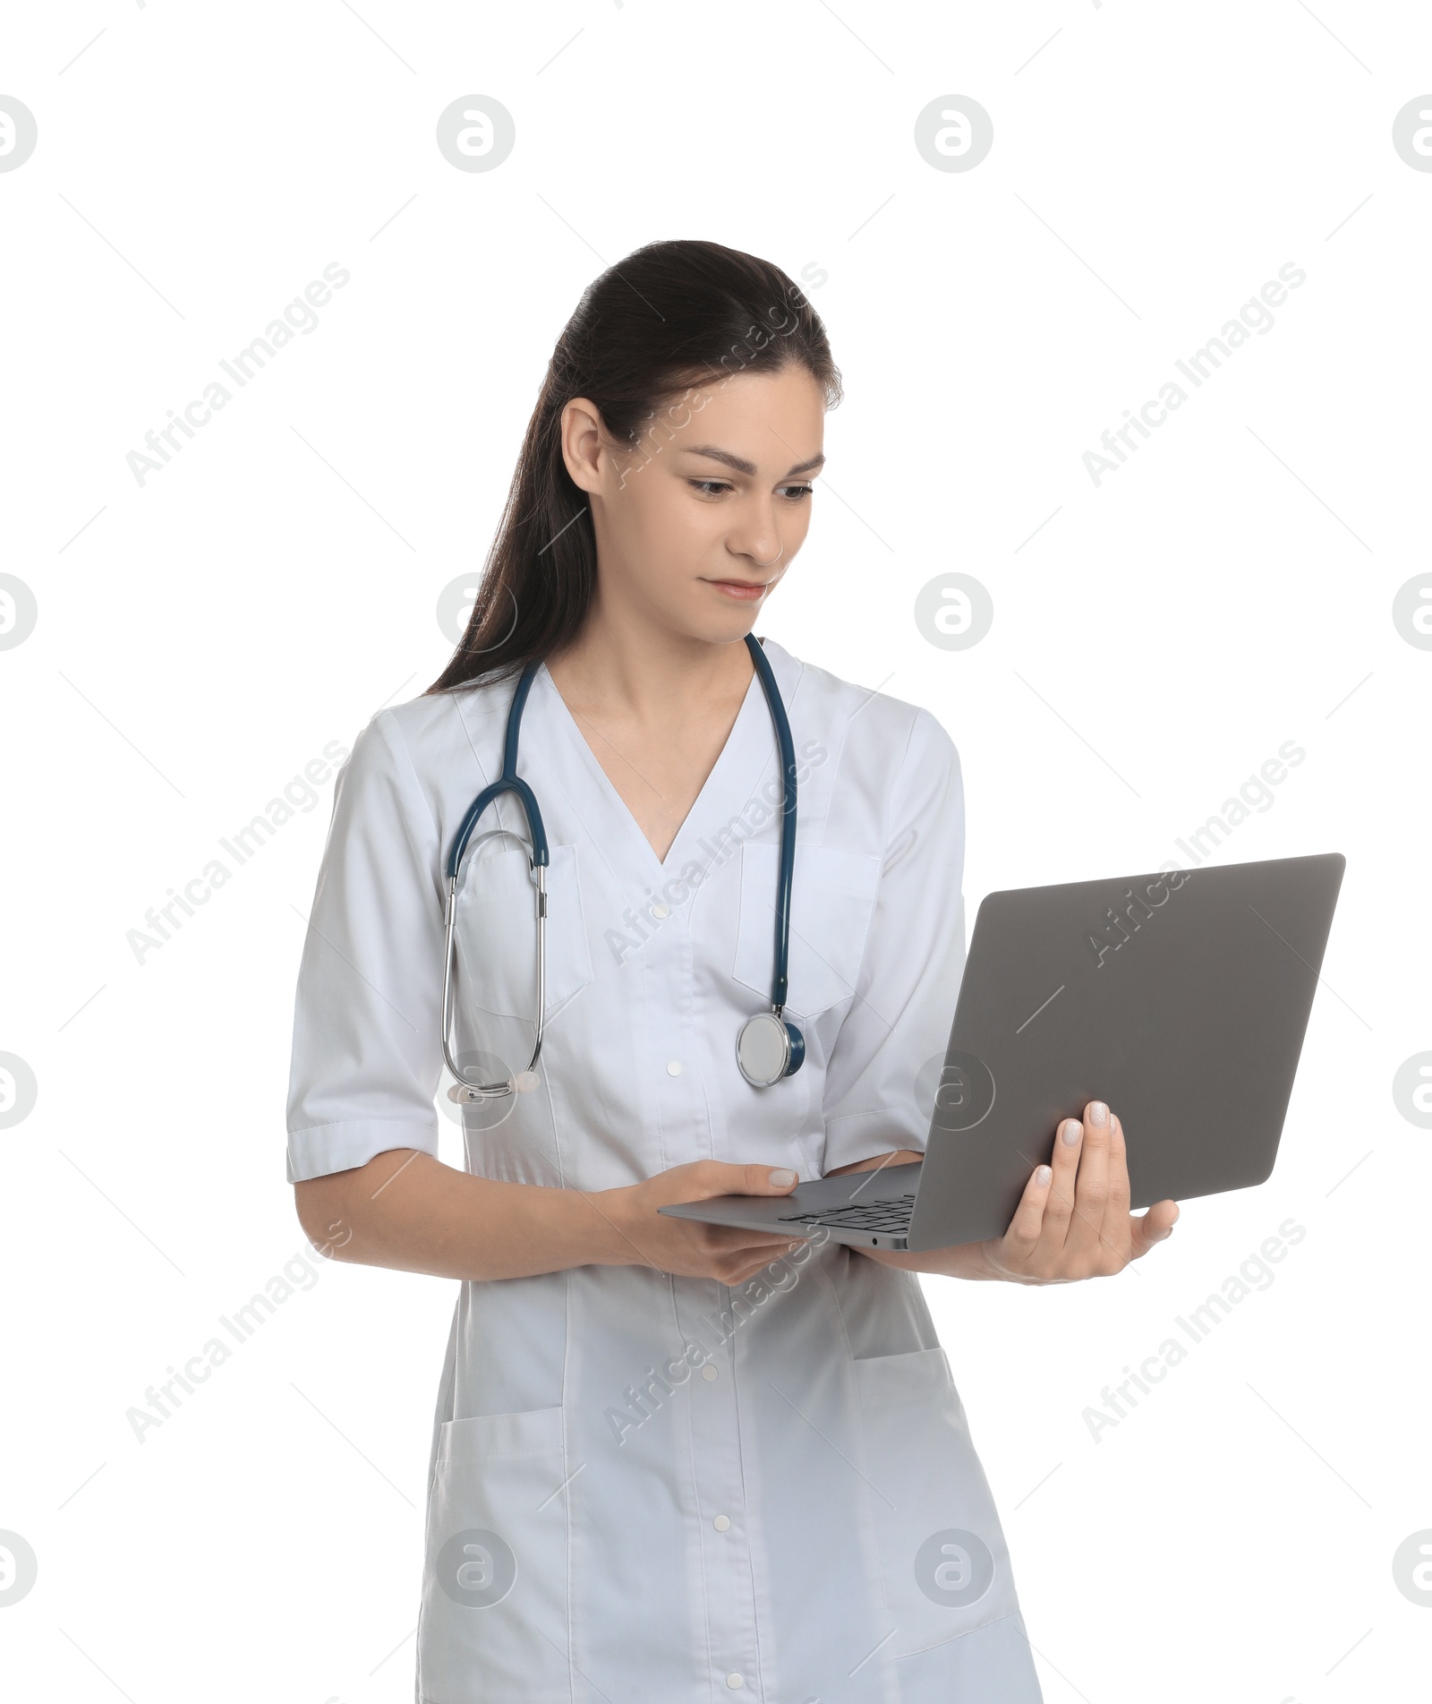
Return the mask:
[[[736,982],[770,999],[775,971],[776,874],[780,850],[768,840],[741,849],[741,927]],[[855,995],[865,937],[880,883],[874,852],[795,847],[790,888],[790,995],[797,1017],[814,1017]]]

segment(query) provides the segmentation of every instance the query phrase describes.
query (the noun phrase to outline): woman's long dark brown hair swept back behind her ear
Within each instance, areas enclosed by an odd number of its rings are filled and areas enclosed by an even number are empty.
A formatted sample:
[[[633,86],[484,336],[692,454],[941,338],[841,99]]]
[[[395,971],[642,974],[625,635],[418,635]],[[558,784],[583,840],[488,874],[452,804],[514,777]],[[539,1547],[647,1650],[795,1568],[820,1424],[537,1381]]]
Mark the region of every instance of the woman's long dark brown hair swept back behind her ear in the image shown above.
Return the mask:
[[[528,421],[477,600],[427,692],[509,675],[581,632],[596,591],[587,494],[562,460],[562,409],[596,404],[618,443],[661,452],[693,385],[800,365],[841,397],[826,327],[778,266],[719,242],[649,242],[587,285]],[[688,411],[690,417],[690,411]],[[644,441],[645,440],[645,441]]]

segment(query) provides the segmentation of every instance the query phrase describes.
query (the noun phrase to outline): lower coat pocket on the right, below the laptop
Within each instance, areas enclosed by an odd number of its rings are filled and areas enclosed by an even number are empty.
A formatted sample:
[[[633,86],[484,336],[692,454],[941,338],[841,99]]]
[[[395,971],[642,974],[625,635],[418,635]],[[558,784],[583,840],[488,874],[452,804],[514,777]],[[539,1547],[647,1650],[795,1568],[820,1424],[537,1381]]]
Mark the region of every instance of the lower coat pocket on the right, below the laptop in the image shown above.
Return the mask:
[[[909,1656],[1018,1610],[1010,1552],[945,1351],[853,1367],[891,1655]]]

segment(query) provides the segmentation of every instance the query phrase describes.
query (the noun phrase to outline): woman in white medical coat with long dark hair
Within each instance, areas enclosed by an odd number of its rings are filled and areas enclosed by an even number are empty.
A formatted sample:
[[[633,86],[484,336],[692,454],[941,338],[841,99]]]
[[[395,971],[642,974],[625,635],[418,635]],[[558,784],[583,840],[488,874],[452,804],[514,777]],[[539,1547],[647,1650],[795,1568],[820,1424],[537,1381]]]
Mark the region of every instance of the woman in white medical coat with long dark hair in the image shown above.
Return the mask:
[[[335,1258],[460,1280],[429,1704],[1040,1697],[914,1273],[1059,1283],[1144,1254],[1177,1206],[1129,1213],[1119,1120],[1091,1102],[1066,1121],[986,1244],[901,1256],[657,1213],[919,1157],[916,1079],[959,992],[954,745],[766,641],[799,782],[785,1017],[805,1055],[766,1087],[737,1068],[741,1026],[771,1007],[782,815],[744,639],[805,538],[838,399],[780,268],[657,242],[606,271],[557,341],[451,663],[339,775],[289,1181]],[[451,1048],[467,1080],[518,1089],[461,1104],[456,1171],[434,1108],[446,859],[502,772],[528,665],[545,1000],[528,821],[504,794],[460,872]]]

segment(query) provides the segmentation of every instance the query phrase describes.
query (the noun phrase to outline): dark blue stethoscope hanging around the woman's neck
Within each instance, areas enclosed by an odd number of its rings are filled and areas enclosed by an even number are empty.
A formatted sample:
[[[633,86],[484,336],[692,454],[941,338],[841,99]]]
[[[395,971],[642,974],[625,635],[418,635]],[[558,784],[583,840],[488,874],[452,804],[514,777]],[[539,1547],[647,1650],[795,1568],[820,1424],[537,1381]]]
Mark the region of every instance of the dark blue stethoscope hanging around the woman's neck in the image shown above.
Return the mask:
[[[785,1021],[787,964],[790,961],[790,889],[795,874],[795,743],[790,738],[790,721],[782,704],[780,687],[766,661],[766,653],[758,639],[746,636],[746,649],[756,665],[761,690],[766,694],[766,707],[771,712],[771,726],[776,734],[782,767],[782,815],[780,815],[780,867],[776,872],[776,935],[775,935],[775,971],[771,975],[771,1009],[756,1012],[741,1026],[736,1038],[736,1065],[753,1089],[770,1089],[782,1077],[792,1077],[805,1060],[805,1038]],[[523,728],[523,711],[526,709],[531,683],[541,663],[528,663],[518,676],[518,688],[507,711],[507,734],[502,745],[502,774],[490,787],[468,806],[463,825],[453,840],[448,854],[448,946],[443,958],[443,1058],[456,1082],[448,1089],[450,1101],[487,1101],[504,1094],[521,1094],[538,1084],[536,1062],[541,1058],[541,1036],[547,1026],[547,830],[541,825],[541,809],[536,794],[518,775],[518,738]],[[487,840],[509,838],[528,849],[528,866],[536,886],[536,1041],[526,1070],[504,1082],[468,1082],[467,1074],[453,1058],[451,1021],[453,1021],[453,927],[458,915],[458,871],[463,854],[472,840],[477,820],[504,792],[511,792],[523,808],[528,825],[528,840],[507,828],[494,828],[480,835],[473,845]]]

